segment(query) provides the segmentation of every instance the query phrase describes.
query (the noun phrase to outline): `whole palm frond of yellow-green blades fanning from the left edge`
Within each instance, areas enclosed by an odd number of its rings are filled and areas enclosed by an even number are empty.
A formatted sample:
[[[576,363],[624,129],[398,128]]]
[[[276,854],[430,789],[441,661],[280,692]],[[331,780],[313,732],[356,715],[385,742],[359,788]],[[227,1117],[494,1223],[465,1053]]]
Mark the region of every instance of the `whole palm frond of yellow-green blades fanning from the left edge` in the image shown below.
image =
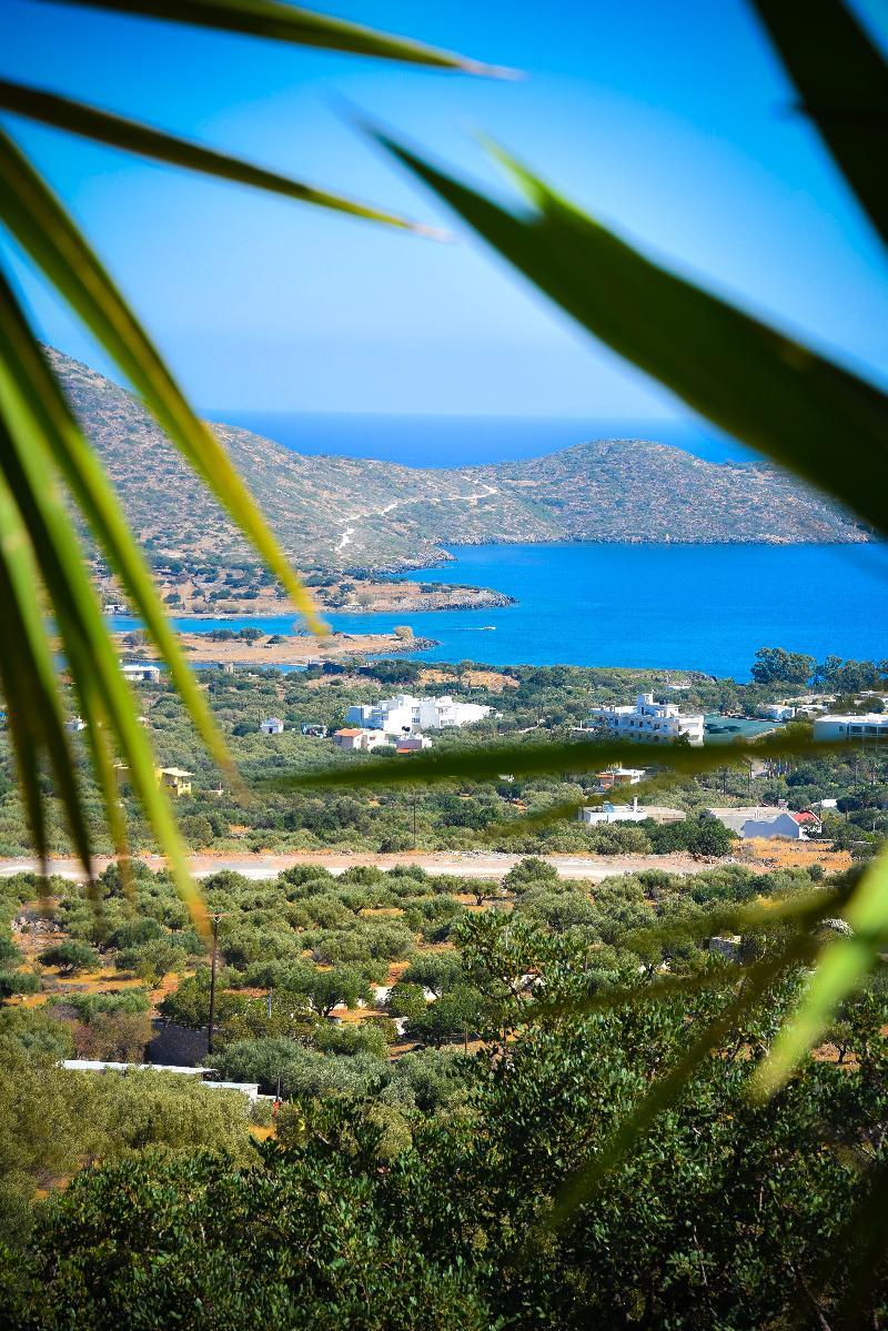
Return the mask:
[[[76,4],[77,0],[69,3]],[[461,56],[266,0],[170,0],[158,4],[146,0],[142,5],[126,0],[100,0],[97,8],[438,69],[494,72]],[[0,81],[0,109],[96,142],[300,202],[402,229],[425,230],[385,209],[316,189],[59,93],[4,80]],[[310,598],[225,450],[194,415],[65,208],[3,129],[0,222],[116,361],[172,442],[276,574],[309,626],[324,631]],[[229,779],[237,781],[224,741],[185,664],[116,495],[67,406],[11,285],[0,272],[0,616],[4,624],[0,635],[0,683],[35,847],[45,862],[49,847],[40,788],[40,769],[45,760],[55,777],[76,852],[91,872],[91,835],[64,728],[53,644],[44,620],[44,615],[52,612],[87,721],[92,765],[114,848],[125,858],[126,828],[113,771],[113,759],[118,755],[176,881],[201,924],[202,905],[190,884],[185,851],[169,803],[157,785],[150,745],[138,724],[134,699],[120,672],[113,642],[85,571],[72,508],[85,519],[117,572],[210,753],[228,771]]]

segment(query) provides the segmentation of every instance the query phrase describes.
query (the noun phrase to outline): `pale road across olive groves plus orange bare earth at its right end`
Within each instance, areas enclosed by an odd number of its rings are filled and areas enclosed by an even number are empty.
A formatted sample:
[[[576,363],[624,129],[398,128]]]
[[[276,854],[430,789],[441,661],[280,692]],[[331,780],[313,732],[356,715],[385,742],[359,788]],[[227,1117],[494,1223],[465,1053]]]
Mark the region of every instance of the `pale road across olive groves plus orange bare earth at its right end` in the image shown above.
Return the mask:
[[[756,843],[760,852],[756,856],[738,855],[732,858],[707,860],[695,858],[684,852],[674,855],[541,855],[539,858],[551,864],[562,878],[582,878],[590,882],[600,882],[618,873],[643,873],[646,869],[662,869],[666,873],[703,873],[707,869],[726,864],[743,864],[746,868],[760,873],[774,869],[785,869],[791,864],[807,866],[811,864],[824,864],[829,872],[839,872],[851,865],[851,856],[845,851],[829,852],[825,848],[809,844],[800,847],[795,843],[775,845],[774,843]],[[145,864],[153,869],[161,869],[164,861],[160,856],[140,856]],[[225,869],[233,873],[242,873],[248,878],[273,878],[284,869],[292,869],[297,864],[317,864],[330,873],[345,873],[358,865],[371,865],[377,869],[394,869],[399,864],[413,864],[427,873],[447,873],[458,878],[503,878],[509,870],[523,860],[522,855],[506,855],[502,852],[473,852],[473,851],[421,851],[414,855],[378,855],[365,851],[326,852],[305,851],[290,855],[193,855],[189,869],[196,878],[209,877],[212,873],[221,873]],[[827,862],[828,861],[828,862]],[[111,858],[101,857],[93,862],[93,872],[101,873]],[[0,860],[0,877],[11,877],[13,873],[33,872],[39,869],[36,860]],[[76,860],[52,860],[49,872],[64,878],[83,878],[83,866]]]

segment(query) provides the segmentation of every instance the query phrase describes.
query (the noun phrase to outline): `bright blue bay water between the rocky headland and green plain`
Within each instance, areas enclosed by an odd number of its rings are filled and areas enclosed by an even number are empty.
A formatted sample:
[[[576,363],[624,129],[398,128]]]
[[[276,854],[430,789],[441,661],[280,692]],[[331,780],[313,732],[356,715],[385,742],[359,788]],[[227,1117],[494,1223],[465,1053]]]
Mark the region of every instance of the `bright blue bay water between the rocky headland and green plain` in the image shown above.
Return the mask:
[[[329,615],[359,634],[410,624],[429,662],[639,666],[750,677],[758,647],[888,658],[888,546],[473,546],[415,576],[494,587],[499,610]],[[117,628],[134,620],[116,619]],[[293,615],[176,619],[289,632]],[[206,659],[213,659],[208,643]]]

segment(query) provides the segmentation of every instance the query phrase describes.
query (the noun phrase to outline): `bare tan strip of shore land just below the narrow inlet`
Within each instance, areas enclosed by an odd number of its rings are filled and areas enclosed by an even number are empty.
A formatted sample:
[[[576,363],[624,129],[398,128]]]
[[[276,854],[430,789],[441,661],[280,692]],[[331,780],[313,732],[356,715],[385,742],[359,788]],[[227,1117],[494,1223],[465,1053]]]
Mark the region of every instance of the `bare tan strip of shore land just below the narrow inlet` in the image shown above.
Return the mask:
[[[126,634],[116,634],[121,656],[132,656],[124,643]],[[395,638],[394,634],[328,634],[324,638],[288,636],[272,643],[269,635],[254,643],[228,639],[214,642],[206,634],[180,634],[178,639],[194,660],[230,662],[236,666],[305,666],[309,662],[341,660],[345,656],[393,656],[398,652],[425,651],[438,644],[430,638]]]

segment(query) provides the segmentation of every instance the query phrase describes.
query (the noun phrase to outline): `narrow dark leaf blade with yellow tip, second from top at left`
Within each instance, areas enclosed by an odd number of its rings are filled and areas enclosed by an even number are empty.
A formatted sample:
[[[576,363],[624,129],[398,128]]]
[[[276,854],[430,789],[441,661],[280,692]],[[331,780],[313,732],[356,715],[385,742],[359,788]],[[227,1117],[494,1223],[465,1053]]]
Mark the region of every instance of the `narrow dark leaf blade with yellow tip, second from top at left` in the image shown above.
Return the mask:
[[[330,194],[326,190],[316,189],[301,181],[278,176],[276,172],[265,170],[261,166],[254,166],[252,162],[240,161],[225,153],[202,148],[200,144],[190,144],[184,138],[165,134],[150,125],[126,120],[124,116],[100,110],[97,106],[87,106],[84,102],[72,101],[69,97],[60,97],[57,93],[25,88],[23,84],[0,79],[0,108],[12,110],[19,116],[27,116],[41,125],[53,125],[56,129],[65,129],[68,133],[80,134],[99,144],[109,144],[112,148],[138,153],[154,161],[172,162],[173,166],[202,172],[218,180],[232,180],[240,185],[252,185],[254,189],[265,189],[273,194],[282,194],[285,198],[293,198],[302,204],[316,204],[321,208],[349,213],[353,217],[362,217],[373,222],[385,222],[389,226],[398,226],[422,236],[441,234],[434,228],[410,222],[405,217],[398,217],[378,208],[370,208],[366,204],[357,204],[339,194]]]

